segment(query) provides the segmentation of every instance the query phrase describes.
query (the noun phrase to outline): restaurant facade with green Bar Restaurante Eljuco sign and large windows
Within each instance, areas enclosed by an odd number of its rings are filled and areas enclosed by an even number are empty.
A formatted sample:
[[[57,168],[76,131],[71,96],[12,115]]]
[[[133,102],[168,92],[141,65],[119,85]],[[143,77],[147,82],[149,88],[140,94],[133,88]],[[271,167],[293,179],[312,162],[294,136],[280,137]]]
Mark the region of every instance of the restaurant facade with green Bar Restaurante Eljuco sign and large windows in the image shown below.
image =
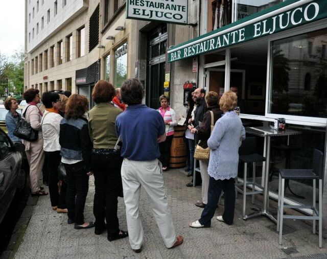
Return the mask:
[[[299,131],[271,138],[269,196],[277,199],[278,170],[311,168],[314,149],[325,151],[327,2],[207,0],[200,7],[199,36],[168,50],[172,107],[183,112],[183,81],[192,78],[220,96],[234,87],[245,126],[273,126],[283,118]],[[256,144],[266,155],[266,138]],[[264,185],[260,174],[257,181]],[[290,180],[285,196],[293,205],[311,201],[312,181]]]

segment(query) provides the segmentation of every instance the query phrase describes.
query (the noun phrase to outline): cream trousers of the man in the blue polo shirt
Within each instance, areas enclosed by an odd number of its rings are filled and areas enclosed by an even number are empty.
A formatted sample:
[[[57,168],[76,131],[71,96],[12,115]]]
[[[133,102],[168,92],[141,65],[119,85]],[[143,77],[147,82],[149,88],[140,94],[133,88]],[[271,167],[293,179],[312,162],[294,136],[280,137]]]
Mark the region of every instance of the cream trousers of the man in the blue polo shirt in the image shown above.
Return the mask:
[[[158,159],[132,161],[124,158],[122,181],[129,243],[132,249],[139,249],[143,243],[143,227],[139,218],[139,195],[144,188],[154,219],[166,247],[172,247],[176,233],[162,180],[162,166]]]

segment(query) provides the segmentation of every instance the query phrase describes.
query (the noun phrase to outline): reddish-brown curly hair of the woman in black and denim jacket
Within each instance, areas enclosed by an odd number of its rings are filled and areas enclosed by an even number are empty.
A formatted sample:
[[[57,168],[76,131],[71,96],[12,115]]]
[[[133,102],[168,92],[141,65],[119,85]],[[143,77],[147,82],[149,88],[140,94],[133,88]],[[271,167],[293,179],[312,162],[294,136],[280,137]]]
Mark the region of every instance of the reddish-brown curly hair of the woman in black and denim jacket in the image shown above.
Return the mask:
[[[87,110],[88,100],[85,96],[71,95],[66,103],[66,119],[77,119],[82,117]]]

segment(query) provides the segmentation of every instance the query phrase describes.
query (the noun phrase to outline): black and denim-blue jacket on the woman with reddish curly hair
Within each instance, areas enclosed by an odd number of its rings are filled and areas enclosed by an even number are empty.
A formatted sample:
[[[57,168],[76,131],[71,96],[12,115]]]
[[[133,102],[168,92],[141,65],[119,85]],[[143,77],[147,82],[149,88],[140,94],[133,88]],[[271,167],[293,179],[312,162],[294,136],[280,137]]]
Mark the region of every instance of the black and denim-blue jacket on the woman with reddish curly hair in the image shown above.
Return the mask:
[[[85,170],[89,172],[92,142],[88,133],[88,123],[83,117],[62,119],[60,122],[60,155],[75,160],[83,160]]]

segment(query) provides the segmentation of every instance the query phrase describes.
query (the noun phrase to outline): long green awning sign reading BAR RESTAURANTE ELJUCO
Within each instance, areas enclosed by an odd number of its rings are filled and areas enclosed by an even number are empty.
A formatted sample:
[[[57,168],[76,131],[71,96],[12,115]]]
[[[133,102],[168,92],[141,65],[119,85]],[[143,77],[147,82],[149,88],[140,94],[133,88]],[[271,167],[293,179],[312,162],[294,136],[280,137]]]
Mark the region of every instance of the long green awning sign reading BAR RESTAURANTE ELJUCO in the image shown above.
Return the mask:
[[[264,10],[175,46],[168,51],[168,62],[216,51],[327,17],[326,0],[291,0],[283,4],[281,8]]]

